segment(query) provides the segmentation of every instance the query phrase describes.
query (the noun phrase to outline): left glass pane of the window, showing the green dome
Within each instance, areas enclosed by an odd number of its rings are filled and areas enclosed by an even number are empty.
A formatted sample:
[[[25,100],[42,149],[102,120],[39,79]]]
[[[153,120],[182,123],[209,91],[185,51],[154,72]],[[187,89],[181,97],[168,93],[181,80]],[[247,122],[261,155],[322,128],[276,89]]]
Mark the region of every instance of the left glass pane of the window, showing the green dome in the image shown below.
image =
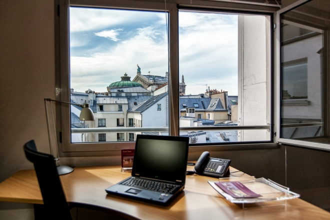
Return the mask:
[[[148,133],[141,124],[168,135],[168,14],[71,6],[69,16],[70,99],[95,115],[79,121],[71,106],[71,142],[133,140]]]

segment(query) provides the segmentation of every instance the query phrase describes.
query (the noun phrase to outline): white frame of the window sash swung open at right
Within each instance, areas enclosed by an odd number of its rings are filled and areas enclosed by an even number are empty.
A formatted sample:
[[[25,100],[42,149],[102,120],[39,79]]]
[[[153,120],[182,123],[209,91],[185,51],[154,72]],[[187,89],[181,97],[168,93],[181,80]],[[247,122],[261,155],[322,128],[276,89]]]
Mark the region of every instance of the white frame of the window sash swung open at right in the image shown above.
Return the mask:
[[[298,0],[286,7],[281,8],[280,10],[278,10],[276,12],[276,26],[278,28],[276,28],[276,47],[275,47],[275,53],[276,53],[276,57],[275,57],[275,61],[276,61],[276,68],[275,68],[275,76],[276,76],[276,114],[275,114],[275,119],[276,119],[276,133],[278,133],[278,135],[276,135],[275,141],[277,143],[283,143],[283,144],[292,144],[292,145],[297,145],[297,146],[304,146],[307,148],[316,148],[316,149],[330,149],[330,144],[324,144],[324,143],[316,143],[316,142],[309,142],[309,141],[303,141],[303,140],[293,140],[293,139],[286,139],[286,138],[280,138],[279,137],[279,133],[280,133],[280,102],[281,100],[281,96],[280,96],[280,89],[281,89],[281,81],[280,81],[280,15],[281,13],[288,11],[300,4],[306,3],[309,0]]]

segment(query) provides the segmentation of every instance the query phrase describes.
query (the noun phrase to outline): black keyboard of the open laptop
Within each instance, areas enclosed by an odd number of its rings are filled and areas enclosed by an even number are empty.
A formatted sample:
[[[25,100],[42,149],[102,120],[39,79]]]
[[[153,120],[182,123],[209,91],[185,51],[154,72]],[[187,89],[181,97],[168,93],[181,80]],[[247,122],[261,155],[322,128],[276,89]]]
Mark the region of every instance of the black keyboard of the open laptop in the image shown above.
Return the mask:
[[[170,194],[173,194],[173,192],[175,192],[179,188],[179,186],[175,185],[175,184],[152,181],[152,180],[141,179],[141,178],[129,178],[120,184],[134,186],[134,187],[140,187],[140,188],[149,189],[152,191],[158,191],[158,192],[170,193]]]

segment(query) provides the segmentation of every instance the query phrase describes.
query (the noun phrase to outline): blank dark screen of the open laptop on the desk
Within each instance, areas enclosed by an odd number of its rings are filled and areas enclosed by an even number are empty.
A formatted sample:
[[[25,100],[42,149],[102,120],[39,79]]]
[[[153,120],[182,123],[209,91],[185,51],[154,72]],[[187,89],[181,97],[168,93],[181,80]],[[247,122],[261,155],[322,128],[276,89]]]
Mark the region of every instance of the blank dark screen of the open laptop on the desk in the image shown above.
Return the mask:
[[[137,135],[132,175],[185,183],[188,137]]]

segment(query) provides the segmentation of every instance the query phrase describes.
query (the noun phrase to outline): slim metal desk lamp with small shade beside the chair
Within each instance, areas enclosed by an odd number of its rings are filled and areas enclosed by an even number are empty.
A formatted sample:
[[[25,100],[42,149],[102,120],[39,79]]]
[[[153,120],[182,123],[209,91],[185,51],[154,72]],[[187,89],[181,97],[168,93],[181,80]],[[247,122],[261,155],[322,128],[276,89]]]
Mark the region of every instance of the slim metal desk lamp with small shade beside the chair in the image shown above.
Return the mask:
[[[70,173],[73,171],[73,168],[70,166],[65,166],[65,165],[60,165],[59,164],[59,156],[58,156],[58,146],[57,146],[57,137],[56,137],[56,129],[55,129],[55,123],[54,123],[54,114],[52,111],[52,105],[51,102],[60,102],[60,103],[65,103],[65,104],[72,104],[72,105],[78,105],[79,107],[82,107],[82,110],[80,112],[79,120],[95,120],[95,116],[93,111],[90,109],[89,104],[83,103],[83,104],[76,104],[76,103],[71,103],[71,102],[66,102],[66,101],[58,101],[58,100],[53,100],[50,98],[45,98],[44,99],[44,106],[46,109],[46,117],[47,117],[47,128],[48,128],[48,136],[49,136],[49,145],[50,145],[50,153],[53,155],[52,152],[52,141],[51,141],[51,131],[50,131],[50,124],[49,124],[49,117],[48,117],[48,108],[47,108],[47,101],[50,103],[50,109],[51,109],[51,118],[52,118],[52,124],[54,126],[54,133],[55,133],[55,143],[56,143],[56,152],[57,156],[54,158],[55,164],[57,166],[57,172],[58,175],[63,175],[66,173]]]

